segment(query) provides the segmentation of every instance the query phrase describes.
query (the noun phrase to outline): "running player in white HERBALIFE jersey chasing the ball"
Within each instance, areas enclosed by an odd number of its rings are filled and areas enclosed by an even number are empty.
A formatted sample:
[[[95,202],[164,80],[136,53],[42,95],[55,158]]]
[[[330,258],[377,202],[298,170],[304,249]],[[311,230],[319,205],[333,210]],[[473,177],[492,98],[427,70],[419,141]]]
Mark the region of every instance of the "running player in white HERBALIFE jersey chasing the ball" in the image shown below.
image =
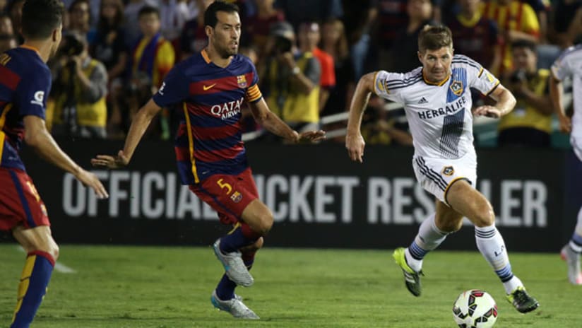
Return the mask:
[[[449,233],[461,228],[463,216],[475,225],[477,248],[503,282],[507,298],[519,312],[535,310],[539,303],[528,295],[511,271],[509,257],[489,201],[475,189],[477,156],[473,147],[473,116],[501,117],[516,104],[499,80],[473,59],[453,56],[451,30],[425,26],[418,37],[422,67],[405,74],[377,71],[360,78],[350,107],[345,146],[352,160],[362,162],[362,114],[370,93],[404,104],[414,140],[412,159],[420,185],[437,197],[436,213],[420,225],[407,248],[393,257],[403,271],[405,285],[420,296],[422,259]],[[497,101],[471,112],[470,88]]]

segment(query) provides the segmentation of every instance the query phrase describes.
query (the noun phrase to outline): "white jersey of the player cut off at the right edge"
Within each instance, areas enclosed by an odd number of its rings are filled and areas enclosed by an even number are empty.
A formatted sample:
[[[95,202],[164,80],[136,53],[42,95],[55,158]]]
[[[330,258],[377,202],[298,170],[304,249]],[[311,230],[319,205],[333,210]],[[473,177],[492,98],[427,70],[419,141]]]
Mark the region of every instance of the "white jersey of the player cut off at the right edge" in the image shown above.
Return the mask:
[[[582,142],[582,45],[564,50],[552,65],[552,74],[559,81],[569,76],[572,78],[572,95],[574,96],[572,137]]]

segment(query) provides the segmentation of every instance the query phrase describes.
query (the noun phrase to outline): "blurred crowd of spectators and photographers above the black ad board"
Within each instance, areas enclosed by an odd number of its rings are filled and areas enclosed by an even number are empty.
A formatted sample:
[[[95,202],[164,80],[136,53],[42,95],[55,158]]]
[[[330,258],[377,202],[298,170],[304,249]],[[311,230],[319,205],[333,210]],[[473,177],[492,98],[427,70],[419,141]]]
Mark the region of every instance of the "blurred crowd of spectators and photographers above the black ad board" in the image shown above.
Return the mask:
[[[0,52],[17,47],[25,0],[0,0]],[[64,38],[49,62],[54,83],[47,124],[55,136],[123,139],[136,111],[165,74],[206,46],[203,12],[211,0],[65,0]],[[297,130],[321,127],[343,143],[345,112],[362,74],[420,66],[425,24],[453,31],[456,54],[498,76],[518,100],[491,124],[483,145],[555,146],[550,66],[581,41],[582,0],[238,0],[239,52],[255,62],[269,107]],[[474,94],[474,103],[488,100]],[[386,110],[389,108],[391,110]],[[147,137],[172,139],[166,109]],[[244,131],[264,141],[248,111]],[[363,124],[368,144],[412,144],[403,110],[372,97]]]

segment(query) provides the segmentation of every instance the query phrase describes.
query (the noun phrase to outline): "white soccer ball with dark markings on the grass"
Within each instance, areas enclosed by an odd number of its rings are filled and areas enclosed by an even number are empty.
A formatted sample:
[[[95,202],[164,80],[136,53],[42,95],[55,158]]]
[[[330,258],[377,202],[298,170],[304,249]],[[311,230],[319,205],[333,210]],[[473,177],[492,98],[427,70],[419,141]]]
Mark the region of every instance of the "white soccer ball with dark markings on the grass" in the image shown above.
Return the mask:
[[[463,291],[453,304],[453,319],[460,328],[489,328],[497,320],[497,304],[485,291]]]

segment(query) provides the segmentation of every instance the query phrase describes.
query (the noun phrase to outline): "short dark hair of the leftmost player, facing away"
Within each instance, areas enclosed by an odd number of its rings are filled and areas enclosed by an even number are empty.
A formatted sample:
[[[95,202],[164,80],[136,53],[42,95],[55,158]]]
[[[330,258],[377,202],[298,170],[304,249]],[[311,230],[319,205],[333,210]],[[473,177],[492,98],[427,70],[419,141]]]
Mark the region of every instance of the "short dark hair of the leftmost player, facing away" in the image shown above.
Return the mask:
[[[22,34],[25,39],[42,40],[63,23],[65,7],[61,0],[26,0],[22,8]]]

